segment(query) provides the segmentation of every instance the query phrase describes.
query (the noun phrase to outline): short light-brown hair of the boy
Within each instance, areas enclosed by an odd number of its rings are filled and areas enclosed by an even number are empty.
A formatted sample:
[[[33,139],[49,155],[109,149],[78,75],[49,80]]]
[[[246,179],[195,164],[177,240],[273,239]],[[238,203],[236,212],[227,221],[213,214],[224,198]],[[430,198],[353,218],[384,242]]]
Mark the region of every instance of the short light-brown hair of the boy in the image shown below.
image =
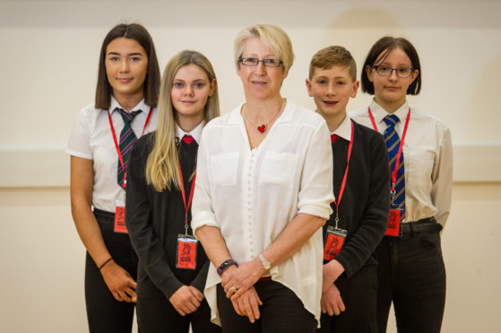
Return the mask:
[[[327,70],[335,65],[348,68],[351,81],[357,81],[357,63],[350,51],[340,46],[324,47],[313,55],[309,64],[309,79],[313,78],[316,68]]]

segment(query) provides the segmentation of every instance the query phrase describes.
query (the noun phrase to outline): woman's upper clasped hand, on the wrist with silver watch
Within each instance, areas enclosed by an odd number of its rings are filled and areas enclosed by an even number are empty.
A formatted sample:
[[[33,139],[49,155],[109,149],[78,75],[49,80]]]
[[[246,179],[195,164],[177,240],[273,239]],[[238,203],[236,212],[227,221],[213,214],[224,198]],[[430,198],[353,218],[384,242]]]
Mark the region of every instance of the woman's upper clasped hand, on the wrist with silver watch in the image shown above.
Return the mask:
[[[244,262],[238,268],[236,266],[229,267],[221,276],[221,286],[226,292],[226,297],[236,300],[251,286],[254,286],[257,280],[263,276],[263,273],[263,264],[259,258]]]

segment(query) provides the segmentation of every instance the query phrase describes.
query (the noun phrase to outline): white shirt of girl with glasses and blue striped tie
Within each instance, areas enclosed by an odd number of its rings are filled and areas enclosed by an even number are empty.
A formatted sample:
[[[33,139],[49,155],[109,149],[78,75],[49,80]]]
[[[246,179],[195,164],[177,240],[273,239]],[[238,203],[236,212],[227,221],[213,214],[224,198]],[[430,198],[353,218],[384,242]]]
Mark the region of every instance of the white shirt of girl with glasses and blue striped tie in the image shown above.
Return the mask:
[[[377,130],[386,129],[388,113],[376,101],[370,104]],[[395,129],[402,138],[409,105],[394,112],[400,121]],[[373,128],[367,107],[350,113],[358,124]],[[447,125],[432,115],[410,108],[409,127],[403,143],[405,162],[405,219],[403,222],[435,217],[442,226],[449,217],[453,192],[453,145]]]

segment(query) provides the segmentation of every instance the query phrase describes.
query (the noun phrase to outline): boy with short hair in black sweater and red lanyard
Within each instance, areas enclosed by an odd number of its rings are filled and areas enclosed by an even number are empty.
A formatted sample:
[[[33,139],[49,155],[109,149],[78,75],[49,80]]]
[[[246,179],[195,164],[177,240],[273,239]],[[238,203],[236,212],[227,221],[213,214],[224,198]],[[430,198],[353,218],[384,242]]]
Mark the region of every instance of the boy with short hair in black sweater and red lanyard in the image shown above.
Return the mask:
[[[390,178],[383,136],[346,115],[357,96],[355,60],[344,47],[312,58],[307,90],[331,132],[333,215],[324,226],[319,332],[376,331],[376,257],[388,222]]]

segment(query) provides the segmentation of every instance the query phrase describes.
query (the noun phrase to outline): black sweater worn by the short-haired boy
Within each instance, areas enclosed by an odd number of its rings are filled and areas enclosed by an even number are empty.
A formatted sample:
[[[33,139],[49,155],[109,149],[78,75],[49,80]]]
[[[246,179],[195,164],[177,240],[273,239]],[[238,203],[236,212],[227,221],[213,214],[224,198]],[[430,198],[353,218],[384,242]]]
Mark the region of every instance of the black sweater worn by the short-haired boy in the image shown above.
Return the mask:
[[[351,277],[364,265],[375,265],[374,250],[381,242],[388,224],[390,208],[390,169],[383,135],[353,122],[354,137],[350,168],[339,207],[338,227],[348,231],[335,260]],[[336,200],[346,170],[348,146],[343,138],[333,142],[333,189]],[[333,215],[324,225],[334,226]],[[326,262],[326,261],[324,261]]]

